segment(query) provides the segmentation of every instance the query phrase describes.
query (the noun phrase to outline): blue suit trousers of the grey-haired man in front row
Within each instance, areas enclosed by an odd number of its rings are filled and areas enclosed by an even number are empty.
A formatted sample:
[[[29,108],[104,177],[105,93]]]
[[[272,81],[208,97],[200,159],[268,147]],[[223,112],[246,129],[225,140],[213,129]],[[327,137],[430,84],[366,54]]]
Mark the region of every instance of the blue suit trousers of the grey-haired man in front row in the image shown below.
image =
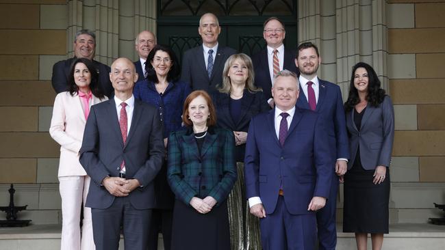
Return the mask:
[[[283,196],[278,197],[275,211],[267,214],[266,218],[260,219],[259,229],[263,250],[313,250],[315,248],[315,213],[290,214]]]

